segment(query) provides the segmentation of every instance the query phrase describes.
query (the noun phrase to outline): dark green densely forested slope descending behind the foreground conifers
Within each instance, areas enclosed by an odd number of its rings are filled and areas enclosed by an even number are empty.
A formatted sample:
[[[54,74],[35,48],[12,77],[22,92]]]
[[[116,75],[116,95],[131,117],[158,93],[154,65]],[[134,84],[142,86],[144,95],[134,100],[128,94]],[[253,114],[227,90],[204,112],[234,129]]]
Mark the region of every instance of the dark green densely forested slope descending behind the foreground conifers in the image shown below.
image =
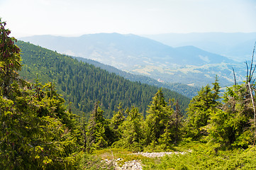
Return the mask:
[[[72,108],[78,114],[84,112],[88,115],[94,103],[100,101],[108,118],[111,118],[119,103],[123,103],[124,108],[137,106],[145,115],[158,89],[156,86],[131,82],[104,69],[28,42],[18,41],[17,45],[22,51],[21,77],[33,81],[38,74],[40,81],[55,82],[57,91],[66,101],[72,102]],[[167,89],[164,89],[164,94],[166,98],[176,98],[182,111],[187,108],[189,98]]]

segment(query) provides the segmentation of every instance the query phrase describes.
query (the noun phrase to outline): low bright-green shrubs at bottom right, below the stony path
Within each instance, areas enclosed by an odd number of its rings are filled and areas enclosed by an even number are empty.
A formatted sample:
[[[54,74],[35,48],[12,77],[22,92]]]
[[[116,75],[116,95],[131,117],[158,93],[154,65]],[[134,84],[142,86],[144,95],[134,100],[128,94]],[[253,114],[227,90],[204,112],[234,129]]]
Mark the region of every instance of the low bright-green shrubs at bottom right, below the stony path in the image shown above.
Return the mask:
[[[255,169],[255,147],[216,154],[208,145],[196,145],[193,152],[171,154],[160,160],[146,159],[143,169]]]

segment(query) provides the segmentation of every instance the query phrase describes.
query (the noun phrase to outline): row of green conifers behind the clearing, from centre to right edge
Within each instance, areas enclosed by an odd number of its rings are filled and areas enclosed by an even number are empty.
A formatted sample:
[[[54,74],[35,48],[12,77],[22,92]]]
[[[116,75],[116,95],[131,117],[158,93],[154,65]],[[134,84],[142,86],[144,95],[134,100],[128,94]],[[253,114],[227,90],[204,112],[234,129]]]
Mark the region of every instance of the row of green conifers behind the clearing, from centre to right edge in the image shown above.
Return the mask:
[[[104,147],[166,151],[182,141],[198,141],[208,143],[216,154],[218,150],[247,149],[255,145],[256,140],[255,94],[252,93],[255,85],[251,73],[245,84],[228,87],[223,101],[216,77],[212,87],[203,87],[191,100],[187,118],[181,114],[177,101],[165,100],[161,89],[152,98],[145,118],[138,108],[124,111],[119,106],[113,118],[106,120],[104,111],[96,103],[88,125],[84,126],[84,148],[88,151]]]

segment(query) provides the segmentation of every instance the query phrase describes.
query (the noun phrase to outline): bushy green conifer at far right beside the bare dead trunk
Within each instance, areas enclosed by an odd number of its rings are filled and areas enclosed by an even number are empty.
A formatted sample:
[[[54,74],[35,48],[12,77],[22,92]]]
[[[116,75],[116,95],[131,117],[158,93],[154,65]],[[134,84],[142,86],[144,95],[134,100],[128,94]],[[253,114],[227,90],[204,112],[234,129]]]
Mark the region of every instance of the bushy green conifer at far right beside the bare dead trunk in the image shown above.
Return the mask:
[[[253,143],[252,103],[246,84],[229,87],[223,96],[223,108],[212,113],[209,138],[222,147],[247,147]]]

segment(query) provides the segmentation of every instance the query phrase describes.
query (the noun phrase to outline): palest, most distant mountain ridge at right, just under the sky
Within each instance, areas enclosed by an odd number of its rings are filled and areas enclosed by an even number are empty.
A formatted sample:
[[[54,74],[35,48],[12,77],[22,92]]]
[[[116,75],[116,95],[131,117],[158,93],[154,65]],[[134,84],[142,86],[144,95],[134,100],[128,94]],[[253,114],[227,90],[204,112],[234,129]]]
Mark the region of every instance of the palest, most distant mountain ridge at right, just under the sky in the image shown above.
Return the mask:
[[[256,41],[256,33],[165,33],[143,36],[172,47],[193,45],[240,62],[250,60]]]

